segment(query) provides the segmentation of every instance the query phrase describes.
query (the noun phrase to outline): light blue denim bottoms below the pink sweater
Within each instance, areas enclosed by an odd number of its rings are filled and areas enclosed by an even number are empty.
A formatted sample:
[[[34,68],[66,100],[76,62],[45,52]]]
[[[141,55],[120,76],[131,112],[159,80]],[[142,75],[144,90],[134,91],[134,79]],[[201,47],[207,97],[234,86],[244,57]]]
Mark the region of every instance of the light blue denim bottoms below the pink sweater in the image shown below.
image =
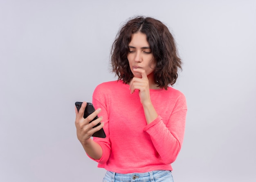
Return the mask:
[[[114,173],[107,171],[102,182],[173,182],[171,171],[150,171],[147,173]]]

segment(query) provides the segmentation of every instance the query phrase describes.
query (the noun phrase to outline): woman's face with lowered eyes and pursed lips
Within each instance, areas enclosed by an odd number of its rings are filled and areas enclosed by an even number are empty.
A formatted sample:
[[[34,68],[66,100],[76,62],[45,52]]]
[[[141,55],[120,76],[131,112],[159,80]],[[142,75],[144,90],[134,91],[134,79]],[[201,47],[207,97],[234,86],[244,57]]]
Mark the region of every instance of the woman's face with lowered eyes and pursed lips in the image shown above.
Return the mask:
[[[128,47],[129,53],[127,59],[133,75],[141,78],[141,73],[133,71],[135,68],[141,68],[146,71],[148,79],[154,79],[153,71],[155,69],[155,61],[146,34],[141,32],[133,33]]]

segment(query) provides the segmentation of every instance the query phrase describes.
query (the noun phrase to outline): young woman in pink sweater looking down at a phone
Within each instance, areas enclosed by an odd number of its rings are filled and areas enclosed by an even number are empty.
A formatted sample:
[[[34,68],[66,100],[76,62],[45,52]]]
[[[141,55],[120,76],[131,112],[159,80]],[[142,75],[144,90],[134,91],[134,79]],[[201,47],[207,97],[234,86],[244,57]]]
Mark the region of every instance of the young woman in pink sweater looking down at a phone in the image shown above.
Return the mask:
[[[182,64],[173,36],[154,18],[130,19],[112,45],[111,64],[118,80],[96,87],[94,113],[83,118],[86,102],[76,110],[77,138],[107,170],[103,182],[173,181],[187,111],[184,95],[170,87]],[[102,127],[106,138],[92,140]]]

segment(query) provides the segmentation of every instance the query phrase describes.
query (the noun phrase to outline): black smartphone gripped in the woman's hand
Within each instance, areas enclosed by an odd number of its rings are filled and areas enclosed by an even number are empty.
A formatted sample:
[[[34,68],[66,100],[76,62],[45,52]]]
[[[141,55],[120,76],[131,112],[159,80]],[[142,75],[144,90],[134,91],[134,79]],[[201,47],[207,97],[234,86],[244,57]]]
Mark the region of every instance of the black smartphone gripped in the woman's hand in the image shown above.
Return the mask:
[[[83,104],[83,102],[76,102],[75,105],[76,105],[76,108],[77,108],[77,111],[79,111],[79,109],[81,108],[81,105]],[[85,107],[85,111],[84,111],[84,114],[83,114],[83,118],[87,118],[88,115],[90,115],[91,113],[93,113],[95,111],[92,103],[90,102],[87,102],[87,105]],[[93,118],[92,121],[96,120],[98,118],[98,116],[96,116],[95,118]],[[90,121],[90,122],[92,122]],[[99,126],[101,123],[99,122],[97,125],[95,125],[94,127],[97,127]],[[93,127],[93,128],[94,128]],[[106,134],[105,134],[105,131],[102,129],[100,129],[99,131],[96,131],[95,133],[92,134],[93,137],[99,137],[99,138],[106,138]]]

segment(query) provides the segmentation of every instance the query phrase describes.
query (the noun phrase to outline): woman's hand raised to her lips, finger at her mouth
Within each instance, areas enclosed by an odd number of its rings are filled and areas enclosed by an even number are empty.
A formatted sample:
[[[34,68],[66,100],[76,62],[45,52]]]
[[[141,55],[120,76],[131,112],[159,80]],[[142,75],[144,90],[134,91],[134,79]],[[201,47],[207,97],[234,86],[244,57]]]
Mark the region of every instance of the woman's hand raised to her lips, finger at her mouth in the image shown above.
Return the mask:
[[[139,98],[141,104],[151,103],[150,93],[149,93],[149,82],[146,75],[146,71],[141,68],[134,69],[134,71],[141,73],[142,78],[133,77],[130,82],[130,91],[134,93],[135,89],[139,90]]]

